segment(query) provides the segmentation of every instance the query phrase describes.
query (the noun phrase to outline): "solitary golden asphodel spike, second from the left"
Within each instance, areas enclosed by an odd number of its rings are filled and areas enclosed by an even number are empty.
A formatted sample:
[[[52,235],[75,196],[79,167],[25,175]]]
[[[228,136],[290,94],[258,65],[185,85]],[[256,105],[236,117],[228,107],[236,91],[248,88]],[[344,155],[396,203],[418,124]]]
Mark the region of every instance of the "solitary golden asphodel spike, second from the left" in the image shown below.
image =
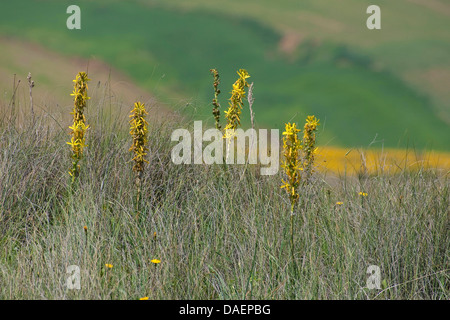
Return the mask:
[[[130,115],[130,135],[133,138],[133,144],[130,147],[131,152],[133,152],[133,171],[135,172],[135,184],[137,188],[137,203],[140,202],[141,195],[141,184],[142,184],[142,174],[144,172],[145,163],[148,161],[145,159],[148,151],[148,123],[145,120],[145,116],[148,115],[145,110],[145,105],[136,102],[134,104],[133,110],[131,110]]]

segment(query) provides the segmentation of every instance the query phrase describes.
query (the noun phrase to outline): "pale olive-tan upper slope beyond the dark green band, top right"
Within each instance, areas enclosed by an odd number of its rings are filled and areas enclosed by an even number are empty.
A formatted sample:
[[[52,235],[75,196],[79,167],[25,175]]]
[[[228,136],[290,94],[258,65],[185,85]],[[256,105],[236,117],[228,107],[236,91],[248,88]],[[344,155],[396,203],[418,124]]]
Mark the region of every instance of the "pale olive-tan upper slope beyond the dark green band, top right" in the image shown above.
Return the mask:
[[[370,55],[414,90],[429,95],[450,124],[450,2],[445,0],[139,0],[178,10],[208,10],[255,19],[282,34],[280,47],[295,55],[308,39],[333,41]],[[382,30],[365,27],[366,9],[378,4]],[[298,51],[298,50],[297,50]],[[298,53],[298,52],[297,52]]]

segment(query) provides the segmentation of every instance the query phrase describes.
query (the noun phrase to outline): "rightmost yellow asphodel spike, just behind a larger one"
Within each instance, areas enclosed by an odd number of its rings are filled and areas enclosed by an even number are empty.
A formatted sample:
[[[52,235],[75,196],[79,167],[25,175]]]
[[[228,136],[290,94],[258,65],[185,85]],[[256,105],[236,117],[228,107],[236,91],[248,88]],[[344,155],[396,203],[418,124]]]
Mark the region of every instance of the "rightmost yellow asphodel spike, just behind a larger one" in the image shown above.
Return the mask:
[[[313,172],[314,158],[317,152],[316,131],[318,126],[319,120],[315,116],[308,116],[303,127],[303,172],[306,181]]]

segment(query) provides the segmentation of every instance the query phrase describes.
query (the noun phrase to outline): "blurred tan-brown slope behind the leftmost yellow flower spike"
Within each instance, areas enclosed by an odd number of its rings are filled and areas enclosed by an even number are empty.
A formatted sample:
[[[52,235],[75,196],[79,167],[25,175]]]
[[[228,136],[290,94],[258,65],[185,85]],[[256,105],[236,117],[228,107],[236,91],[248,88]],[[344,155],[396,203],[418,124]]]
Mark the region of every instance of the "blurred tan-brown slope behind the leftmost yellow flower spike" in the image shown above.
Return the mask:
[[[123,113],[128,113],[131,104],[140,100],[152,102],[152,107],[158,110],[155,115],[172,114],[169,109],[154,104],[151,93],[99,59],[65,56],[38,44],[8,37],[0,37],[0,46],[0,93],[10,108],[15,78],[15,101],[21,114],[30,113],[27,83],[30,72],[35,83],[32,91],[35,112],[48,113],[58,121],[66,121],[71,117],[69,113],[73,106],[72,79],[80,70],[89,71],[91,104],[109,105],[114,101],[115,105],[123,106]]]

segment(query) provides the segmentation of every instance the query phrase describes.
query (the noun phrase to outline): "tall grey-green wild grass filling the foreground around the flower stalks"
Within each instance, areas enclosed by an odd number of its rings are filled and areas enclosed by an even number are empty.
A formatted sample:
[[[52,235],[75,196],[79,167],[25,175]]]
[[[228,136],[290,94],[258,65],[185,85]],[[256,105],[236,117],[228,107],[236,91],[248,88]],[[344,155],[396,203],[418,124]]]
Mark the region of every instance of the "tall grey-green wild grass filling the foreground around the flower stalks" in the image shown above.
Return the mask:
[[[136,219],[126,119],[106,110],[90,106],[78,193],[67,192],[65,125],[0,116],[1,299],[450,298],[448,176],[405,170],[332,186],[313,174],[294,221],[295,274],[282,172],[249,166],[240,180],[240,165],[174,165],[181,124],[154,122]],[[67,289],[69,265],[80,290]],[[363,288],[369,265],[384,289]]]

